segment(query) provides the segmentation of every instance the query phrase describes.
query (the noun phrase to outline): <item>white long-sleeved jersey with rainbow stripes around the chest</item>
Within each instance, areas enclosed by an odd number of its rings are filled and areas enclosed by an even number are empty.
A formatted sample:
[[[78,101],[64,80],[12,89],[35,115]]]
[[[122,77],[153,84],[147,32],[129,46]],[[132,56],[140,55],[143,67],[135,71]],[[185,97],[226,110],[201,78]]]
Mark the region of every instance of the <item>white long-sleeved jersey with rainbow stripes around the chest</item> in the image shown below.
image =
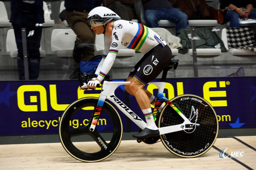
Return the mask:
[[[166,45],[159,35],[142,24],[117,20],[113,22],[112,35],[105,35],[105,49],[103,58],[95,72],[100,80],[111,69],[121,45],[146,54],[149,50],[161,43]]]

